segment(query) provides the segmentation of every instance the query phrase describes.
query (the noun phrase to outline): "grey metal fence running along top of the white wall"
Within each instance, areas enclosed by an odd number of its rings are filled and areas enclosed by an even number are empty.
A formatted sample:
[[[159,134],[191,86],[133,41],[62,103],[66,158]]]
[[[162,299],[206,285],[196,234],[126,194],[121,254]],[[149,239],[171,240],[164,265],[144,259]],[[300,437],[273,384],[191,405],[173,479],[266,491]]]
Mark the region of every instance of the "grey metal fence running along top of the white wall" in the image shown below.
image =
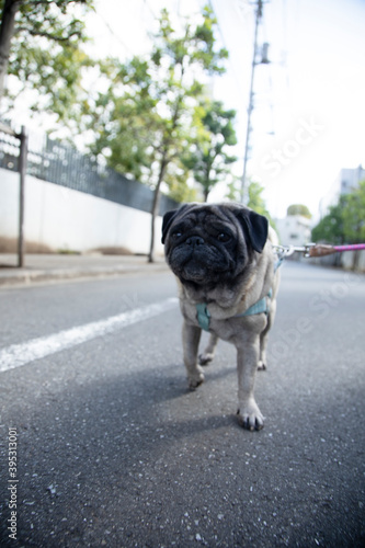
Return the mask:
[[[0,132],[0,168],[19,171],[19,139]],[[100,198],[151,212],[153,191],[101,165],[71,146],[45,137],[30,135],[27,173],[50,183]],[[160,215],[176,207],[166,195],[160,199]]]

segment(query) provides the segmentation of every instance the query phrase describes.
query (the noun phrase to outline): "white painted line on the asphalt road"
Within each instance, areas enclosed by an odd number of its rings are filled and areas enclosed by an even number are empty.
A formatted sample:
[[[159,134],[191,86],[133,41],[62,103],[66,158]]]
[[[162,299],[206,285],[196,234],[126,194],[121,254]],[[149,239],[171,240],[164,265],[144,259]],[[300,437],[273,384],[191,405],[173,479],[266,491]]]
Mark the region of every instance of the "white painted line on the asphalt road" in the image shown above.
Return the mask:
[[[25,343],[12,344],[0,351],[0,373],[21,367],[34,359],[70,349],[96,336],[103,336],[106,333],[126,328],[138,321],[148,320],[175,307],[176,302],[178,298],[172,297],[162,302],[147,305],[129,310],[128,312],[112,316],[105,320],[92,321],[91,323],[77,326],[76,328],[67,329],[48,336],[39,336]]]

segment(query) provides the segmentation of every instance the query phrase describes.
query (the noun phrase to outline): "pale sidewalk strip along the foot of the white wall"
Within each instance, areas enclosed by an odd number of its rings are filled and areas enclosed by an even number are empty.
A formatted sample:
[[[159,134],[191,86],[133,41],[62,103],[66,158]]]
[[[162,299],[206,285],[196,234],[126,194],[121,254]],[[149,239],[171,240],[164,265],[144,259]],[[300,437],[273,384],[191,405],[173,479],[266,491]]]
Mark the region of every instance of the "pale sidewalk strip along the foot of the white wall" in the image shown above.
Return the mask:
[[[26,254],[25,266],[18,269],[16,264],[15,254],[0,253],[0,287],[168,270],[162,256],[149,264],[140,255]]]

